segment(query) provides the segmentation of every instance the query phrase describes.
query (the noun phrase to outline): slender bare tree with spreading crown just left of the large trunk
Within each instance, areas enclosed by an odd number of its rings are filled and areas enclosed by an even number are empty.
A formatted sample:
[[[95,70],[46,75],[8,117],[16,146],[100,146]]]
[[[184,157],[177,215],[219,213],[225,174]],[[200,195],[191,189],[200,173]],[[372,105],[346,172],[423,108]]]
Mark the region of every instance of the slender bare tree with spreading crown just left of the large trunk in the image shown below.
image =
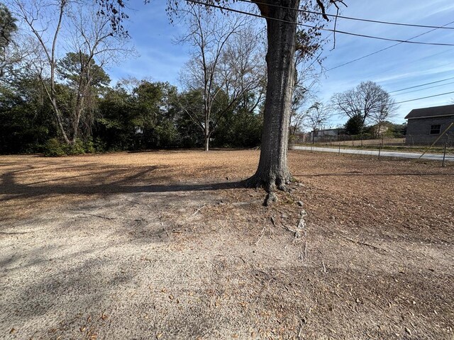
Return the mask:
[[[181,106],[203,131],[204,149],[208,151],[218,120],[245,94],[263,86],[260,78],[264,72],[257,55],[260,40],[252,31],[249,18],[214,16],[191,5],[182,11],[189,30],[181,41],[192,45],[191,59],[182,71],[182,83],[187,91],[201,91],[203,108],[194,112],[185,103]]]

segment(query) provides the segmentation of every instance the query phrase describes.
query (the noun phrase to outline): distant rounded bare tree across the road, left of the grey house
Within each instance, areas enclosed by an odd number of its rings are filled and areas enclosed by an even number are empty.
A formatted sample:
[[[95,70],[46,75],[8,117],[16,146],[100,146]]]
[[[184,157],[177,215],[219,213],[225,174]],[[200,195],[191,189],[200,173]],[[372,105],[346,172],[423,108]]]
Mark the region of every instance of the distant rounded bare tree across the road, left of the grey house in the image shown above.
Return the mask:
[[[334,94],[331,105],[333,110],[348,118],[360,118],[362,125],[367,121],[382,123],[397,108],[387,91],[373,81],[362,82],[355,89]]]

